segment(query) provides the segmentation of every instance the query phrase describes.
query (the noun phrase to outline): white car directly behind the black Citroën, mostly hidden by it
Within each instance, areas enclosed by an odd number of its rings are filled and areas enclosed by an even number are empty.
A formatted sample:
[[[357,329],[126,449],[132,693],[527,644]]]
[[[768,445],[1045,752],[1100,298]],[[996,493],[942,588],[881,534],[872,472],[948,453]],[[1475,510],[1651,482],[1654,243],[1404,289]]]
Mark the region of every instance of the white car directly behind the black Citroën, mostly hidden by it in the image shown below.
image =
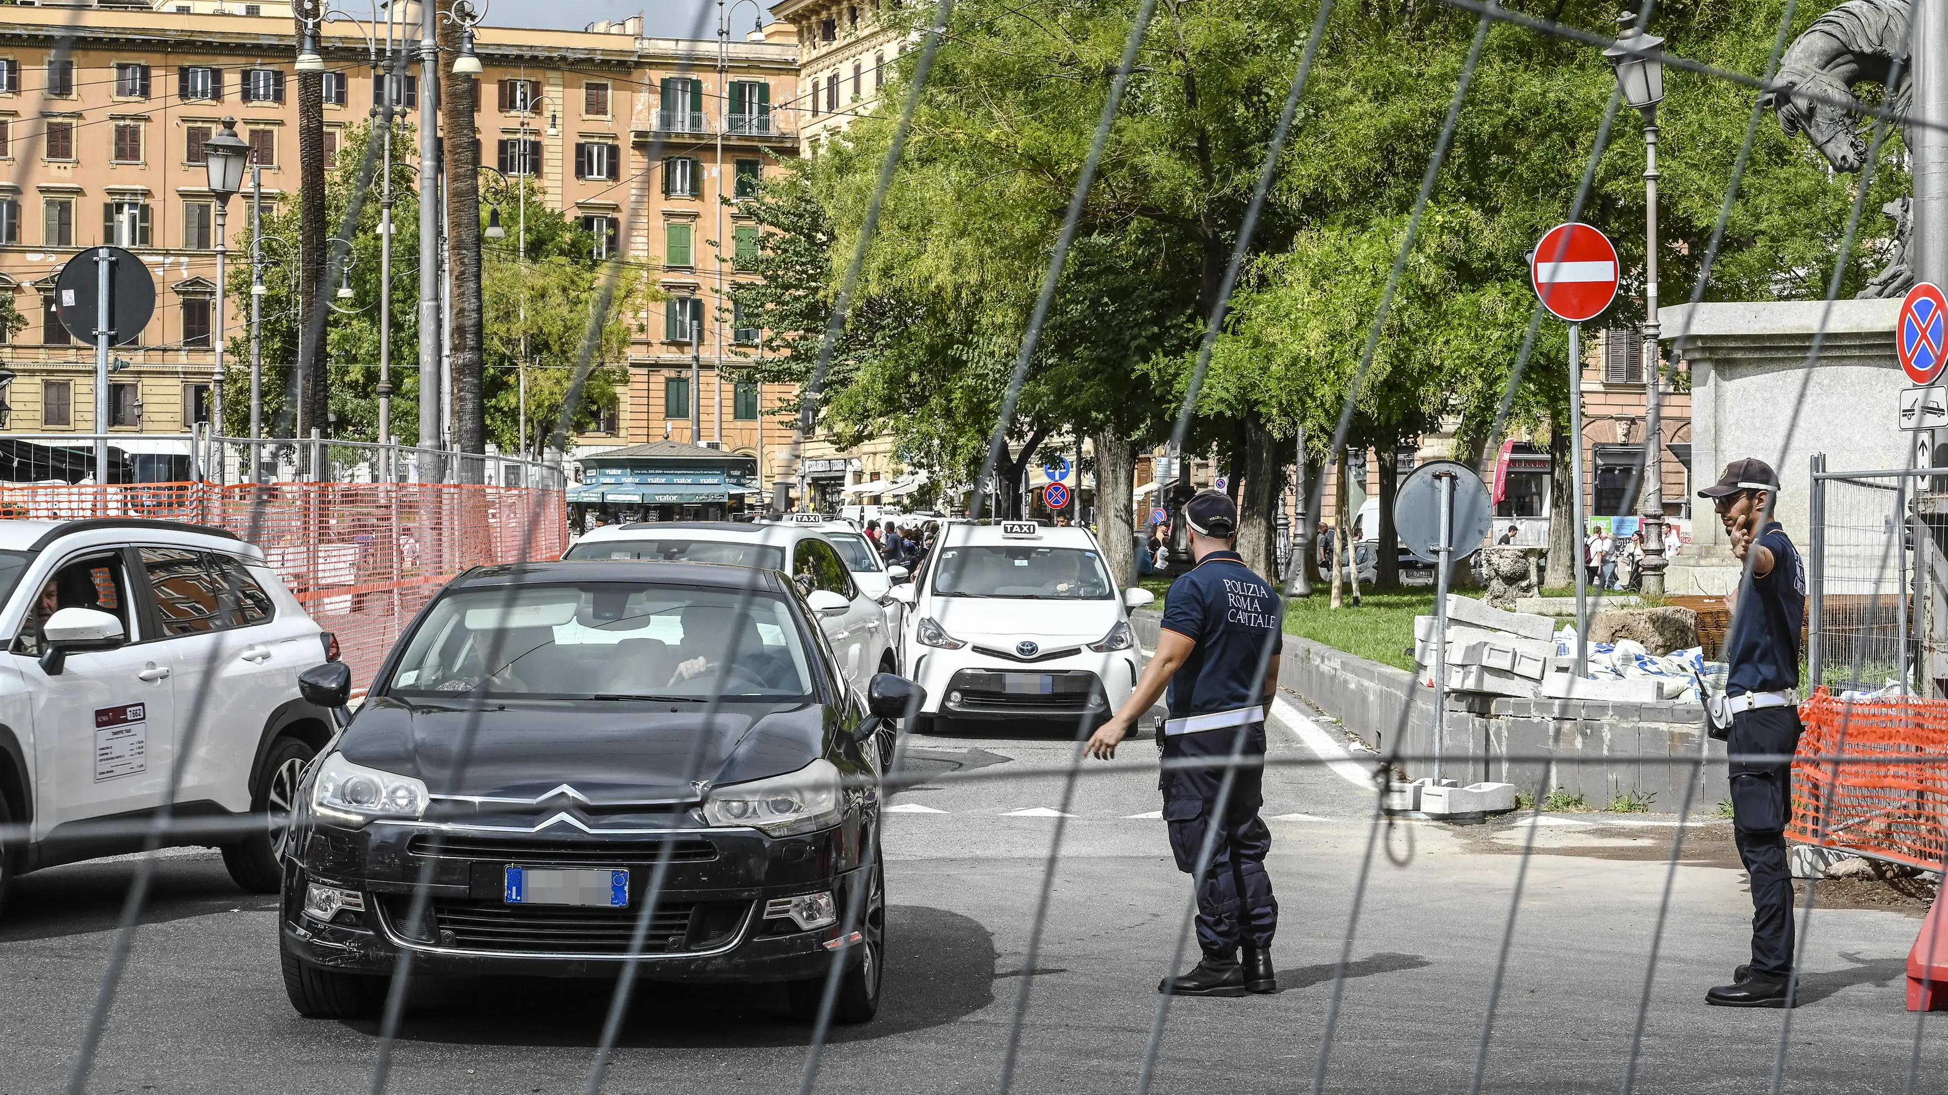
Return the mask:
[[[785,571],[818,610],[826,641],[840,670],[867,694],[877,672],[900,672],[898,618],[855,577],[847,551],[832,536],[851,536],[851,524],[818,514],[785,514],[789,520],[740,524],[732,520],[647,520],[602,526],[582,536],[563,559],[662,559],[670,563],[727,563]],[[828,534],[830,530],[830,534]],[[871,544],[865,544],[867,553]],[[884,573],[875,571],[880,583]],[[900,577],[906,577],[904,571]]]

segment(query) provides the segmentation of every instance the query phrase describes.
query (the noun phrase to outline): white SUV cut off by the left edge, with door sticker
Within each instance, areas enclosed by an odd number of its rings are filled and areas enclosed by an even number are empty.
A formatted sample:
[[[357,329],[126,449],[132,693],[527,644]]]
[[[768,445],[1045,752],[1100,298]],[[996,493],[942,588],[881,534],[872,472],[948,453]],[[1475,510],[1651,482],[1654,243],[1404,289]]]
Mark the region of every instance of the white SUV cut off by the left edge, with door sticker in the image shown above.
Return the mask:
[[[277,892],[292,791],[335,729],[298,674],[333,639],[263,551],[169,520],[0,520],[0,904],[16,873],[140,851],[164,807],[166,846],[218,846]]]

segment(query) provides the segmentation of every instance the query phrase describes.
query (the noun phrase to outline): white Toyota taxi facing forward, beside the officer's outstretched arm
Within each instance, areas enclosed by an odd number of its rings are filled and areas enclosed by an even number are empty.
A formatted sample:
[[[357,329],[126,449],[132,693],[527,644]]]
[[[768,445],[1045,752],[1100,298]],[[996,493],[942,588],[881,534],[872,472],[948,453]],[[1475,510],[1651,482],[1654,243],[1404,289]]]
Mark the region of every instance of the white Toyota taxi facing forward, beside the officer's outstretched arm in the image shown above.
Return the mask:
[[[1032,520],[947,524],[908,606],[900,662],[925,688],[921,725],[1106,721],[1142,666],[1130,610],[1149,590],[1110,579],[1087,528]]]

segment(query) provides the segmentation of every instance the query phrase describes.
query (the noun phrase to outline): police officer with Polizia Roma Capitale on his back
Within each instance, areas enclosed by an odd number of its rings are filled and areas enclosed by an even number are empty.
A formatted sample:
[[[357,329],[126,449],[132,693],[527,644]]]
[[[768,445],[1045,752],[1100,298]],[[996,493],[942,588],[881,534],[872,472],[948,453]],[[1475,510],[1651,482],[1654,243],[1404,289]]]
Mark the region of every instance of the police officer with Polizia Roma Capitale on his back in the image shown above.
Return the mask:
[[[1130,736],[1169,684],[1165,760],[1229,760],[1233,754],[1247,760],[1237,768],[1229,795],[1221,795],[1225,766],[1167,768],[1159,779],[1177,869],[1196,877],[1206,840],[1212,851],[1204,877],[1196,881],[1204,959],[1188,974],[1163,978],[1157,992],[1276,992],[1272,933],[1278,929],[1278,902],[1264,873],[1272,830],[1258,809],[1264,805],[1264,717],[1278,688],[1282,602],[1272,585],[1231,549],[1237,505],[1229,497],[1198,493],[1184,503],[1184,524],[1196,565],[1171,583],[1157,649],[1130,699],[1089,738],[1089,754],[1101,760],[1116,756],[1116,744]]]

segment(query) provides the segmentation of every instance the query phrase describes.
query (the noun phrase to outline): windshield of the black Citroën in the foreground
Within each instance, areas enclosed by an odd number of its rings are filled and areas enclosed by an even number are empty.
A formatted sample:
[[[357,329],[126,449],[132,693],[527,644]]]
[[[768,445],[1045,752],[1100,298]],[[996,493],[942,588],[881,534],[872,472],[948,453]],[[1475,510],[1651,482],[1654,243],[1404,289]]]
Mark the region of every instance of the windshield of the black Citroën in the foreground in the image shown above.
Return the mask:
[[[806,699],[783,598],[645,583],[442,596],[384,688],[403,699]]]

